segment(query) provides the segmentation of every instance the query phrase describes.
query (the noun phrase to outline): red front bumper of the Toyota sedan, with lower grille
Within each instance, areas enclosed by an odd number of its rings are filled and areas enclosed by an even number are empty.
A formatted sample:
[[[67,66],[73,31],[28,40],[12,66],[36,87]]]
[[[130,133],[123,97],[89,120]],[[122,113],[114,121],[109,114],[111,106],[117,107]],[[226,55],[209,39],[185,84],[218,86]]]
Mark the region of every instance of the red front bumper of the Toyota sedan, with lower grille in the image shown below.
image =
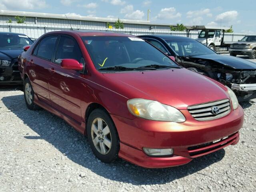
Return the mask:
[[[165,168],[186,164],[202,155],[220,150],[239,141],[244,114],[242,108],[223,118],[199,122],[182,110],[186,122],[156,122],[135,118],[129,120],[111,115],[120,138],[119,157],[147,168]],[[218,139],[228,138],[217,143]],[[150,157],[142,148],[173,148],[170,157]],[[194,151],[196,150],[196,151]]]

